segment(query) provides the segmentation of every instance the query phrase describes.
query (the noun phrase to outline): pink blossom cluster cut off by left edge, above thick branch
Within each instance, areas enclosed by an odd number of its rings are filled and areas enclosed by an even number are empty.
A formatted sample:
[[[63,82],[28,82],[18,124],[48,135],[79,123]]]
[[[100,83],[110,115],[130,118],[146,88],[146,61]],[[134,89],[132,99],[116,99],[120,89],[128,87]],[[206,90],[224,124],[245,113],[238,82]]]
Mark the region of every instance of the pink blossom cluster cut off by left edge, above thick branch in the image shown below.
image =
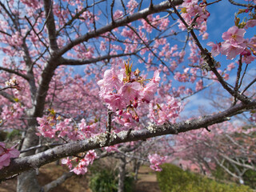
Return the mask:
[[[19,151],[14,148],[15,146],[6,148],[4,142],[0,142],[0,170],[3,166],[10,165],[10,158],[18,158]]]

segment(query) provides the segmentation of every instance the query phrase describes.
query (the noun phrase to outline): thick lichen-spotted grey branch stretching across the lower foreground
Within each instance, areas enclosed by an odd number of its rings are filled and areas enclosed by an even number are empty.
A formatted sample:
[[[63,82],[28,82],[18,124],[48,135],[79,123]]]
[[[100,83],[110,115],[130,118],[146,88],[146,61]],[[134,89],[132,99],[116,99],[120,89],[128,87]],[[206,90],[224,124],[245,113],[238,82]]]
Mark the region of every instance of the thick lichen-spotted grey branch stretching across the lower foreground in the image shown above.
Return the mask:
[[[62,146],[56,146],[50,150],[46,150],[39,154],[34,154],[24,158],[15,158],[7,166],[1,170],[0,179],[11,177],[14,174],[19,174],[23,171],[35,169],[49,162],[54,162],[59,158],[75,155],[87,150],[94,150],[102,146],[113,146],[122,142],[131,142],[145,140],[166,134],[178,134],[189,130],[197,130],[202,127],[211,126],[219,122],[225,122],[235,114],[242,113],[246,108],[256,107],[256,101],[248,104],[239,103],[236,106],[231,106],[228,110],[224,110],[218,114],[212,114],[202,118],[187,120],[175,124],[164,124],[162,126],[148,126],[145,130],[122,131],[118,134],[111,134],[110,142],[106,143],[106,134],[100,134],[95,138],[90,138],[82,141],[71,142]]]

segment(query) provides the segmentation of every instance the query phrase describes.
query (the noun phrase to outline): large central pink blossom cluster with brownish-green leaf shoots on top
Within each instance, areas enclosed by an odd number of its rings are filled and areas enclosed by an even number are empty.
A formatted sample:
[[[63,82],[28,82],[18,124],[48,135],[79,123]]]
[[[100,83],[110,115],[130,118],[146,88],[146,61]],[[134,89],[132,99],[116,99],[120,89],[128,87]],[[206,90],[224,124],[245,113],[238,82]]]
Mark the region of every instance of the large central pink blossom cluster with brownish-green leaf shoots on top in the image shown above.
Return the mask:
[[[117,114],[114,122],[127,127],[134,125],[132,119],[139,121],[136,108],[143,102],[150,103],[160,81],[158,70],[152,79],[146,79],[139,75],[139,70],[132,72],[131,67],[129,63],[121,67],[112,66],[98,81],[100,97]]]

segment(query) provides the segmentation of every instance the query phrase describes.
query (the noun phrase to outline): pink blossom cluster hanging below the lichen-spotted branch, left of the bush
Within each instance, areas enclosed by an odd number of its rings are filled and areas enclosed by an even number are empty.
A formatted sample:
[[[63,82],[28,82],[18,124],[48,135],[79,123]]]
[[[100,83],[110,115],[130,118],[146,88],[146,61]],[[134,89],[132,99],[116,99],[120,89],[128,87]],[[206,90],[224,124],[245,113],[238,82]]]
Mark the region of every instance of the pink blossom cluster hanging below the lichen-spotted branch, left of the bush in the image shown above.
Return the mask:
[[[94,162],[94,159],[98,158],[97,154],[94,152],[94,150],[89,150],[84,158],[62,158],[62,164],[66,164],[66,166],[69,167],[70,171],[73,171],[74,174],[86,174],[87,172],[87,166],[92,165]],[[78,165],[72,169],[72,161],[76,160],[78,162]]]

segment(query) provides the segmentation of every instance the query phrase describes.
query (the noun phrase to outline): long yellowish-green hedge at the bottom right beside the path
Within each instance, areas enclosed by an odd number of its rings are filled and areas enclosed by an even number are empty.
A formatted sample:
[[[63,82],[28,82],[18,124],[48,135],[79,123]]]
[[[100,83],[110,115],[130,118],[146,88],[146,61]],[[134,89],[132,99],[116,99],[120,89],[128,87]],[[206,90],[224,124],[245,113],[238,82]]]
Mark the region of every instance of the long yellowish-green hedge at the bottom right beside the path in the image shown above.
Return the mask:
[[[157,178],[160,189],[165,192],[253,192],[248,186],[223,184],[167,163],[162,165]]]

